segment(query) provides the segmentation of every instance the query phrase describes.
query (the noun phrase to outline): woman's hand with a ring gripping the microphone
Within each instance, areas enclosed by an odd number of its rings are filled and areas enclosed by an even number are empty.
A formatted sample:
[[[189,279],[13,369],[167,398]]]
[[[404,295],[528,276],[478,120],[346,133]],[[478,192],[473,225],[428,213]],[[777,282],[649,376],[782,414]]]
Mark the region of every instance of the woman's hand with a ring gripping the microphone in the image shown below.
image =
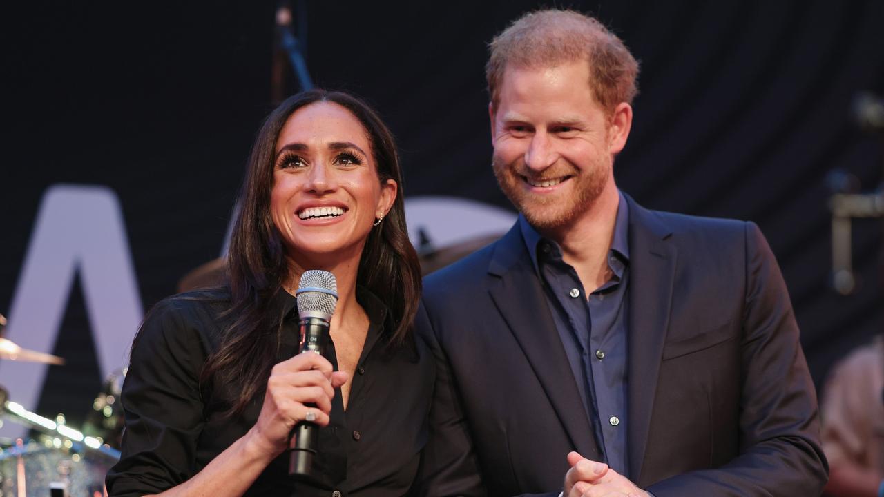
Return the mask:
[[[294,425],[307,419],[308,413],[314,417],[313,423],[329,424],[334,389],[348,377],[346,372],[331,371],[331,363],[314,352],[273,366],[261,414],[248,438],[274,456],[282,454],[288,448],[288,435]]]

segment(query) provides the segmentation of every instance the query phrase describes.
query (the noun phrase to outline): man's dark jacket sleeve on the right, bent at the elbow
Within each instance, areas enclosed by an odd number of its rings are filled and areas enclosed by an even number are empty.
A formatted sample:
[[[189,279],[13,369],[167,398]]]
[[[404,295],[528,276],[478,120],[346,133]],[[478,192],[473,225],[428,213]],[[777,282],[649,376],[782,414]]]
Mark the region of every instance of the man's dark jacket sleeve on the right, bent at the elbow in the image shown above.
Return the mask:
[[[828,467],[789,294],[758,226],[746,224],[740,454],[648,487],[656,497],[819,495]],[[674,455],[677,456],[677,455]]]

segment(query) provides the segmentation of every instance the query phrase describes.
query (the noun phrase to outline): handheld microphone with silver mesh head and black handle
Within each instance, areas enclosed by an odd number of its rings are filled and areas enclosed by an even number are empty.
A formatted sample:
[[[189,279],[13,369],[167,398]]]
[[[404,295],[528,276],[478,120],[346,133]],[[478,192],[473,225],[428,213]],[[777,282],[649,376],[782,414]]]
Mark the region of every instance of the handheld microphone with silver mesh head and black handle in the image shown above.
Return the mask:
[[[295,294],[301,317],[300,352],[322,355],[329,339],[331,315],[338,304],[338,284],[329,271],[310,270],[301,274]],[[319,427],[309,421],[294,425],[288,447],[292,449],[288,474],[298,481],[315,481],[312,476],[313,455],[319,440]]]

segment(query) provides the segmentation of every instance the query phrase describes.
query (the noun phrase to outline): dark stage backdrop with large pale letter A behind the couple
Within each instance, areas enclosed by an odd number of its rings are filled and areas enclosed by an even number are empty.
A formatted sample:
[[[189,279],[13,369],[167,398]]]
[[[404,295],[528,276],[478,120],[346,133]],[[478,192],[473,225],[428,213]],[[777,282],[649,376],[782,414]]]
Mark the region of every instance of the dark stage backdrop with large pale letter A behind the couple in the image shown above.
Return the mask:
[[[126,362],[144,310],[221,250],[272,108],[274,6],[23,4],[4,15],[0,312],[9,338],[68,363],[0,363],[0,382],[76,424]],[[880,181],[880,136],[857,129],[850,103],[884,91],[884,2],[555,4],[596,13],[642,63],[619,185],[650,208],[757,222],[819,384],[880,331],[880,222],[854,223],[860,286],[834,294],[825,179],[841,168],[867,189]],[[377,106],[409,199],[476,201],[507,222],[489,165],[485,47],[536,7],[309,2],[309,71]]]

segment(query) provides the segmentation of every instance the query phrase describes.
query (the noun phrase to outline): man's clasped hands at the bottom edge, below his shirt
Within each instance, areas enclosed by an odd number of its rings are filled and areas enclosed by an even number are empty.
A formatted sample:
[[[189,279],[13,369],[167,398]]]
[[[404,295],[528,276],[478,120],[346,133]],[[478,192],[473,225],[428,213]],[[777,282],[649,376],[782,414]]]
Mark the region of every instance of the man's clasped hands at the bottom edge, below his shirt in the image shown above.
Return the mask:
[[[608,468],[606,463],[568,453],[571,469],[565,474],[563,497],[650,497],[629,479]]]

